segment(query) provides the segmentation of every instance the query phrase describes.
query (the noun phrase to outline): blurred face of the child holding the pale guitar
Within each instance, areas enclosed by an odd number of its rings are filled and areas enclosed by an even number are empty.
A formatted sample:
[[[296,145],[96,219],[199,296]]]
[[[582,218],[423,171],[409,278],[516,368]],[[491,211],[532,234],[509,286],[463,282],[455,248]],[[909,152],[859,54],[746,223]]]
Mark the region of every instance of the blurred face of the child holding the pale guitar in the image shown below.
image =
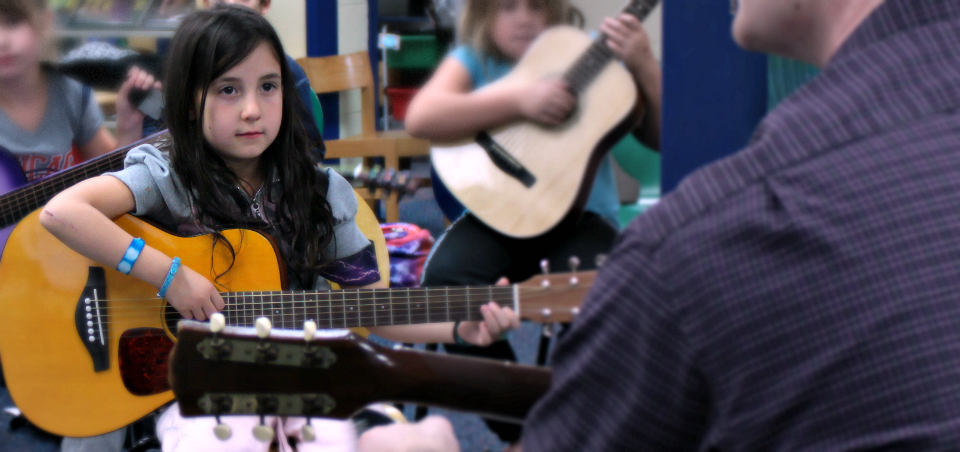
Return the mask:
[[[537,36],[547,29],[546,0],[499,0],[493,21],[494,45],[503,56],[517,61]]]

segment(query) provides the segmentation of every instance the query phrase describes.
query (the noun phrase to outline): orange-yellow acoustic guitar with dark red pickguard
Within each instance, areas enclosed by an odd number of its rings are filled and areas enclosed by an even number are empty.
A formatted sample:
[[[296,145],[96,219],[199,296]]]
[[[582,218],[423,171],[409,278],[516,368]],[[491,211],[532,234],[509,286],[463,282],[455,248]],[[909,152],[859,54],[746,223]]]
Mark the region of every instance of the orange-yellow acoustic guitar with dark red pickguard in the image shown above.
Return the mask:
[[[233,267],[224,246],[208,235],[179,237],[125,215],[116,220],[194,270],[209,269],[224,292],[230,325],[268,317],[281,328],[313,319],[320,328],[480,320],[489,300],[513,306],[526,319],[570,321],[593,272],[544,275],[512,286],[285,291],[286,271],[271,240],[227,230],[237,250]],[[167,355],[179,314],[156,288],[103,268],[23,219],[0,260],[0,354],[10,394],[38,427],[64,436],[92,436],[123,427],[173,399]]]

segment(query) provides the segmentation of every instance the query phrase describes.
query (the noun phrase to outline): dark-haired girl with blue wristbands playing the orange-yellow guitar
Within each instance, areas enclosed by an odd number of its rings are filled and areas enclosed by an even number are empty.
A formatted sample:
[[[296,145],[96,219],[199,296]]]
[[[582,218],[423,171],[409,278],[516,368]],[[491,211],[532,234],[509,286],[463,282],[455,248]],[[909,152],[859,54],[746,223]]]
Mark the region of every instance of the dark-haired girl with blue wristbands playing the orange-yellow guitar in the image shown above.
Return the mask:
[[[357,227],[357,201],[349,183],[318,169],[313,143],[295,112],[301,108],[276,32],[260,14],[221,6],[181,23],[170,45],[164,104],[173,140],[170,155],[144,145],[127,155],[125,169],[81,182],[60,193],[41,223],[80,254],[159,288],[186,318],[204,320],[224,307],[203,274],[209,268],[179,265],[179,258],[131,237],[112,219],[127,212],[149,217],[171,231],[213,234],[227,228],[269,232],[288,268],[290,289],[383,286],[373,245]],[[489,345],[519,326],[510,308],[482,307],[484,322],[463,322],[462,340]],[[376,334],[402,342],[453,342],[453,323],[378,327]],[[231,419],[227,441],[213,435],[211,418],[184,419],[174,405],[158,422],[164,450],[267,450],[250,426],[260,418]],[[298,438],[300,419],[268,417],[281,450]],[[316,422],[316,421],[314,421]],[[317,441],[355,442],[349,423],[328,421]],[[340,449],[337,449],[340,450]]]

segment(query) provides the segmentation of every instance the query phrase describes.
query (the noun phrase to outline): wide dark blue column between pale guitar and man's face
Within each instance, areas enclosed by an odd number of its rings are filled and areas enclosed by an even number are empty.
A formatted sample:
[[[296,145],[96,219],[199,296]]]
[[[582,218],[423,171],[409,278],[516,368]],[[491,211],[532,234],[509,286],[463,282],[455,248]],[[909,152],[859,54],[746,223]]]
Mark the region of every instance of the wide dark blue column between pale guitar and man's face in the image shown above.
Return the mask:
[[[743,148],[767,111],[766,56],[737,47],[729,2],[663,2],[662,184]]]

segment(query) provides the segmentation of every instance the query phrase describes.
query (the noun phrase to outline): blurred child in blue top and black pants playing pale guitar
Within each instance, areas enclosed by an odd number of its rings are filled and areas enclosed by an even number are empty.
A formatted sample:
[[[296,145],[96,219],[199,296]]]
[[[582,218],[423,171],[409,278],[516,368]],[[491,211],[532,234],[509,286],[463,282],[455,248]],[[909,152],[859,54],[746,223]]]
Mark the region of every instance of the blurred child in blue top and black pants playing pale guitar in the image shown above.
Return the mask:
[[[540,80],[516,89],[477,91],[506,75],[531,43],[548,27],[568,22],[571,6],[565,0],[468,0],[460,20],[463,43],[440,64],[413,99],[406,128],[431,140],[472,137],[513,121],[527,119],[547,126],[563,123],[577,99],[559,79]],[[607,46],[632,72],[646,103],[634,133],[654,149],[660,140],[660,67],[639,19],[621,14],[606,19],[601,31]],[[558,49],[559,51],[560,49]],[[551,149],[543,149],[550,159]],[[619,201],[610,157],[604,157],[586,205],[586,213],[572,228],[556,229],[538,237],[517,239],[485,225],[469,212],[457,219],[437,241],[423,271],[423,286],[492,284],[501,276],[522,281],[540,271],[547,259],[551,268],[567,268],[577,256],[585,268],[613,246]],[[445,346],[448,351],[499,359],[515,356],[506,341],[485,349]],[[500,438],[515,442],[514,424],[489,422]]]

